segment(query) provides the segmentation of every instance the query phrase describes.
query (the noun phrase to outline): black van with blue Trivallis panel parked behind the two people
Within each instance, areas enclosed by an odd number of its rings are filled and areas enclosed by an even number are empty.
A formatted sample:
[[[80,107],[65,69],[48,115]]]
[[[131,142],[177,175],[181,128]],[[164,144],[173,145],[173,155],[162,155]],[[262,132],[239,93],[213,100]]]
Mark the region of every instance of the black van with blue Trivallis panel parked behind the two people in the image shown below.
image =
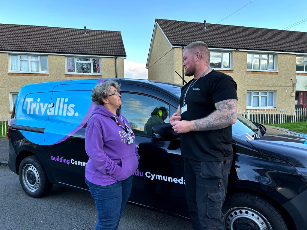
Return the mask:
[[[141,157],[129,201],[188,218],[180,137],[168,124],[169,114],[177,110],[181,86],[115,80],[122,84],[122,114],[135,133]],[[32,84],[18,93],[8,132],[9,166],[30,196],[47,194],[52,184],[88,190],[84,132],[97,81]],[[56,117],[52,108],[62,101],[67,102],[67,111]],[[165,120],[153,122],[151,114],[163,109]],[[241,115],[232,134],[234,159],[222,209],[225,229],[307,229],[307,135]]]

